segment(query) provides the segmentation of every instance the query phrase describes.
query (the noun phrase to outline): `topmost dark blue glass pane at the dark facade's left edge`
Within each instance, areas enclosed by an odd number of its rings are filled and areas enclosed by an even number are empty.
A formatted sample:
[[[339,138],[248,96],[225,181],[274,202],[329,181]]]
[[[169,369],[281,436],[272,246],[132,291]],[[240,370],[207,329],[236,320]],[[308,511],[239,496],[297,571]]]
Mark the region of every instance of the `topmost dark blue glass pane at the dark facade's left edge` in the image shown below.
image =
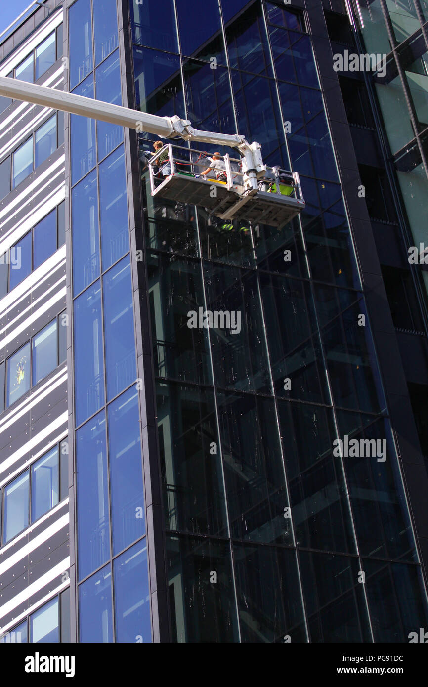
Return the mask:
[[[133,41],[168,52],[179,52],[174,0],[143,5],[129,3]]]

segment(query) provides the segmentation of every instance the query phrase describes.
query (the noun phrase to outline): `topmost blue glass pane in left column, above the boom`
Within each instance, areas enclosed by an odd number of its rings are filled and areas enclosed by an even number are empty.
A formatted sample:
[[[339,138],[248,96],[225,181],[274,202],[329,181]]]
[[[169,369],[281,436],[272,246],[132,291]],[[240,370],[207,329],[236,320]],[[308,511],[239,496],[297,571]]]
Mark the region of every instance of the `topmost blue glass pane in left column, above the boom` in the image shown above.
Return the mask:
[[[70,88],[93,69],[91,0],[78,0],[69,8]]]

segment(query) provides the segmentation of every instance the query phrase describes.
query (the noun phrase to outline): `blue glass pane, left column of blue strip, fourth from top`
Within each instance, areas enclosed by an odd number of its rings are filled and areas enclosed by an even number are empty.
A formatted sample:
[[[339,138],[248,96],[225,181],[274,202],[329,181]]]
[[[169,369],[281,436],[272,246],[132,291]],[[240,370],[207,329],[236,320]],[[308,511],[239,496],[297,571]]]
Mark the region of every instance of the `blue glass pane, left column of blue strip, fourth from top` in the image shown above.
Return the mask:
[[[105,398],[99,281],[74,302],[74,356],[76,425],[80,425],[104,405]]]

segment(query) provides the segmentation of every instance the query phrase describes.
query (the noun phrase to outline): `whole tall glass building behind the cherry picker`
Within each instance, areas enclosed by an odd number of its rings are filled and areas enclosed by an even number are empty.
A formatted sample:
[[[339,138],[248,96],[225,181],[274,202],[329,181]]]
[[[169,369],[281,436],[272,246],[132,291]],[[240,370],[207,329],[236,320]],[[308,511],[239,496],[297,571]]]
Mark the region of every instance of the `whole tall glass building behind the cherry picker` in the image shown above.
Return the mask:
[[[157,137],[0,98],[0,642],[428,627],[427,12],[47,0],[0,38],[0,76],[245,135],[306,201],[225,223],[152,196]]]

